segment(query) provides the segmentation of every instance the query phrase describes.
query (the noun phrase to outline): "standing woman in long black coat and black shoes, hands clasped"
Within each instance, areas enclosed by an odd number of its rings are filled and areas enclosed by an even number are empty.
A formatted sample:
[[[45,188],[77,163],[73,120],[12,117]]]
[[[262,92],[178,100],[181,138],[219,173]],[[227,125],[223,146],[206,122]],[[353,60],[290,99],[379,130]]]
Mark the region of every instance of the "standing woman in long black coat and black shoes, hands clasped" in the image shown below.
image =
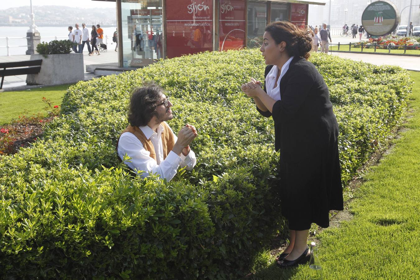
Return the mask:
[[[264,89],[255,79],[241,86],[261,115],[274,120],[281,213],[290,229],[289,246],[277,258],[281,267],[308,261],[311,223],[327,228],[329,210],[343,209],[339,128],[328,87],[307,61],[311,47],[312,31],[287,21],[268,24],[260,48],[268,65]]]

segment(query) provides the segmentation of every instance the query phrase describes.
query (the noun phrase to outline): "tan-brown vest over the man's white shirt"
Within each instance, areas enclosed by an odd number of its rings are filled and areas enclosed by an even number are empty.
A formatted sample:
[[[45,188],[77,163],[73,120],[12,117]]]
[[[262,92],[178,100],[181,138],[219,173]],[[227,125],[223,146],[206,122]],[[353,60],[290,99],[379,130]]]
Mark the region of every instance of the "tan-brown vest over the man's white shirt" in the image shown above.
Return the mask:
[[[169,152],[171,152],[173,145],[175,145],[175,137],[169,128],[168,124],[162,122],[163,131],[162,131],[162,147],[163,147],[163,160],[165,160],[166,156]],[[147,140],[146,136],[144,135],[143,131],[138,128],[137,126],[128,125],[127,128],[121,133],[121,135],[125,132],[133,133],[140,142],[142,142],[143,147],[146,151],[150,152],[150,157],[156,160],[156,152],[155,147],[153,147],[152,141]],[[120,135],[120,137],[121,137]],[[118,142],[120,141],[120,137],[118,137],[117,141],[117,153],[118,153]],[[118,157],[119,158],[119,157]]]

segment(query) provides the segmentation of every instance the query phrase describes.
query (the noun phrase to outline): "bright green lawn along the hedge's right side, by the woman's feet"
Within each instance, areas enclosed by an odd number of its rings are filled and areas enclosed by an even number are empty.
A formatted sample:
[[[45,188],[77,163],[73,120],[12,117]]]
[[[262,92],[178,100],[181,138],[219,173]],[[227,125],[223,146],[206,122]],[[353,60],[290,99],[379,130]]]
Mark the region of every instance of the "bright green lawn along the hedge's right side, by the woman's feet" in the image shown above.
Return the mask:
[[[410,98],[406,131],[377,166],[349,204],[354,215],[338,228],[318,233],[324,279],[420,279],[420,72]],[[281,270],[269,251],[254,261],[248,279],[308,279],[307,265]]]

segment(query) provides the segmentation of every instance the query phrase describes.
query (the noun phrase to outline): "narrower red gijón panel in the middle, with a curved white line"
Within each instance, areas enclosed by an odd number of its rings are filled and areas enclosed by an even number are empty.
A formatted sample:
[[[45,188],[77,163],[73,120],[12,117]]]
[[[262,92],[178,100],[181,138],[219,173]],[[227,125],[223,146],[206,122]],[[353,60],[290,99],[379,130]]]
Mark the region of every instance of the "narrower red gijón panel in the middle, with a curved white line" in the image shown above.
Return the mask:
[[[220,0],[219,50],[239,50],[245,44],[245,1]]]

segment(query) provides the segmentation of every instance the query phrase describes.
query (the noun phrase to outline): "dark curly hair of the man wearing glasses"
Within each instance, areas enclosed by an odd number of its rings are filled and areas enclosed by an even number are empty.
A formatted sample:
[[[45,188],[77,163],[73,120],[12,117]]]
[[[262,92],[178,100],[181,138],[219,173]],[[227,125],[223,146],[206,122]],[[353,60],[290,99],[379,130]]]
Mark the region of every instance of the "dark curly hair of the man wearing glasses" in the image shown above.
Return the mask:
[[[147,126],[157,104],[162,99],[163,89],[155,84],[135,88],[131,93],[129,123],[131,126]]]

